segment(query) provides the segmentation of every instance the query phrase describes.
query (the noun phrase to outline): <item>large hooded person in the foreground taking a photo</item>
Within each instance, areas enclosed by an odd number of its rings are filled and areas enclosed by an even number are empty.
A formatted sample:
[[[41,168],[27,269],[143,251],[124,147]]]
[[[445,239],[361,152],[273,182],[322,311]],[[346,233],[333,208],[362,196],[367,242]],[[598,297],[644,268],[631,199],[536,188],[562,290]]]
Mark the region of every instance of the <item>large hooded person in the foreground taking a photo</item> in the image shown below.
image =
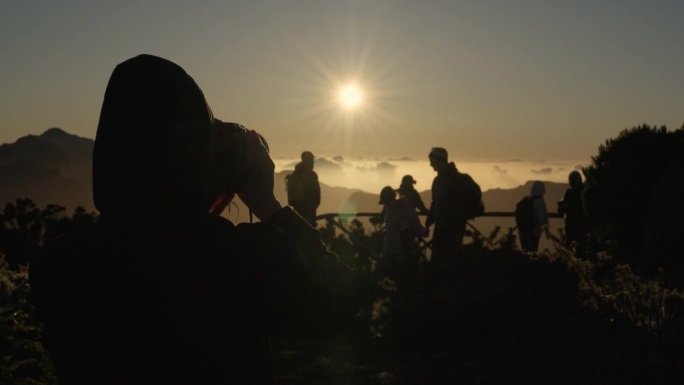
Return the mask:
[[[315,312],[303,306],[308,262],[327,252],[273,195],[262,138],[233,132],[224,139],[240,153],[222,159],[244,163],[213,164],[216,130],[175,63],[139,55],[114,69],[93,151],[100,218],[47,242],[30,265],[60,385],[273,383],[269,334]],[[221,194],[239,195],[260,222],[209,213]]]

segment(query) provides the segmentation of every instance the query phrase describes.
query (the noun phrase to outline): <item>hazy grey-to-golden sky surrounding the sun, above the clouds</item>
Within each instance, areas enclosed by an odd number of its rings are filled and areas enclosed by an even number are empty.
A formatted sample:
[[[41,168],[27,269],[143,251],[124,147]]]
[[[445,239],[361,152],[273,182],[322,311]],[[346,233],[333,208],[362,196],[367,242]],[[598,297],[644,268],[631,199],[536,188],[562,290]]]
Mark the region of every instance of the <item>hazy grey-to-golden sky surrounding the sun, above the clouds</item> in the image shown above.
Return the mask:
[[[624,128],[682,126],[683,19],[681,0],[3,0],[0,143],[94,138],[112,70],[149,53],[274,157],[588,161]]]

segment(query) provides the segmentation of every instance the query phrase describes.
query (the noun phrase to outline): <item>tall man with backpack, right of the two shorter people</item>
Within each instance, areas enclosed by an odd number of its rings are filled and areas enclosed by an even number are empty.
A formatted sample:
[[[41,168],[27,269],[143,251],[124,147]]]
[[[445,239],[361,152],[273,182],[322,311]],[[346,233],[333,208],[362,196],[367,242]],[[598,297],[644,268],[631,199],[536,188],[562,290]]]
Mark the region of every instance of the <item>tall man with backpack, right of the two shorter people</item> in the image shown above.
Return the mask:
[[[430,166],[437,172],[432,181],[432,203],[425,227],[435,225],[432,234],[431,264],[447,267],[463,245],[466,223],[481,214],[482,191],[468,174],[449,162],[447,150],[433,147],[428,155]]]

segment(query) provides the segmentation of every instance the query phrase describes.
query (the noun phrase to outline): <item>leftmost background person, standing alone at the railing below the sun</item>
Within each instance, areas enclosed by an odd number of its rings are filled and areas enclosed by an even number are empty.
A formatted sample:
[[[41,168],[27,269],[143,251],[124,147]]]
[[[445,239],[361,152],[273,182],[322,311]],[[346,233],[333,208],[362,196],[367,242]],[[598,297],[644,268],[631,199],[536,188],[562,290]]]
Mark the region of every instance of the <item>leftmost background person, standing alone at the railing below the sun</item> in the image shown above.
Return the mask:
[[[297,163],[294,172],[286,177],[285,182],[288,204],[315,227],[316,210],[321,204],[321,186],[313,168],[313,154],[311,151],[304,151],[301,162]]]

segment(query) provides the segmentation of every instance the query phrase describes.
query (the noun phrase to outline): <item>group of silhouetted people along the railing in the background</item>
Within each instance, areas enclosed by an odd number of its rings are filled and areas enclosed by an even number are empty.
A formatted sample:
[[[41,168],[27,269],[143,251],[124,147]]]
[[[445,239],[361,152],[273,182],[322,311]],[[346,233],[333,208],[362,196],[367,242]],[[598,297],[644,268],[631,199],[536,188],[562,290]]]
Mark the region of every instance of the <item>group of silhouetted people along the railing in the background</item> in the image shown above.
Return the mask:
[[[458,254],[463,245],[466,226],[471,215],[468,207],[473,205],[464,191],[464,178],[454,162],[449,161],[448,152],[442,147],[434,147],[428,154],[430,166],[437,176],[432,182],[432,202],[428,208],[420,193],[415,189],[412,175],[404,175],[399,188],[385,186],[380,191],[378,204],[382,210],[372,223],[382,224],[384,243],[382,258],[378,261],[378,277],[390,277],[399,286],[414,276],[419,267],[419,240],[430,236],[434,225],[430,263],[438,268],[447,268],[450,260]],[[313,171],[314,156],[310,151],[301,154],[301,162],[292,174],[285,179],[288,186],[288,203],[314,227],[316,209],[321,202],[318,175]],[[472,179],[472,178],[470,178]],[[473,181],[474,182],[474,181]],[[578,256],[586,249],[587,228],[582,205],[582,175],[572,171],[568,176],[569,188],[558,201],[558,213],[564,216],[565,246],[575,247]],[[479,186],[478,186],[479,189]],[[519,224],[518,238],[521,249],[537,252],[542,234],[550,237],[549,214],[544,196],[546,185],[533,181],[530,193],[523,197],[529,200],[529,226]],[[418,215],[425,215],[421,223]],[[516,213],[517,215],[517,213]]]

